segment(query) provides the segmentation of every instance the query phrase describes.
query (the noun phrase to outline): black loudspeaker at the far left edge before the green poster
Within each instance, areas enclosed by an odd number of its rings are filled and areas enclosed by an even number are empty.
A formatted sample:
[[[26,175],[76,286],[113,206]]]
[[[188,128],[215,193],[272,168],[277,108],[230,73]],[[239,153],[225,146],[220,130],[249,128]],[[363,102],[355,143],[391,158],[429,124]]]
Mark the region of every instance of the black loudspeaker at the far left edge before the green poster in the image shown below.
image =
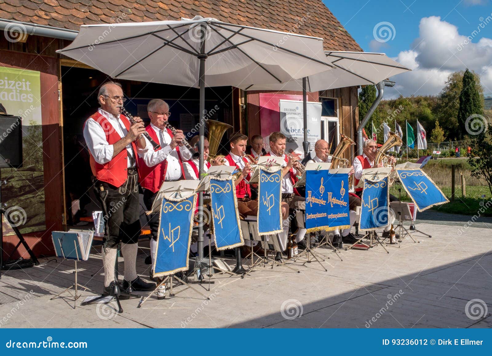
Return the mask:
[[[0,168],[22,167],[22,119],[0,115]]]

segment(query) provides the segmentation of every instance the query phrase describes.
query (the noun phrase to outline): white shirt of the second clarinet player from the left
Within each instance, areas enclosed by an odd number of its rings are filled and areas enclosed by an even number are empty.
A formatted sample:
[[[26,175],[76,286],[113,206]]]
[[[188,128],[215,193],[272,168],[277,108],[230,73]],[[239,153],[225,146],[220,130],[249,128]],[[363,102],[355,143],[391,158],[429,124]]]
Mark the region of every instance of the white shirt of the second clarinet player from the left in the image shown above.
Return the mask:
[[[140,158],[142,158],[149,167],[153,167],[154,165],[167,160],[167,170],[166,176],[164,177],[165,181],[175,181],[181,178],[181,166],[178,157],[178,151],[176,148],[171,150],[171,136],[167,132],[167,129],[163,130],[154,126],[154,124],[150,124],[152,129],[154,129],[157,139],[159,140],[159,144],[161,149],[158,151],[154,151],[154,147],[149,142],[149,140],[145,139],[145,148],[141,149],[137,145],[137,152]],[[191,159],[191,152],[186,147],[180,146],[180,154],[183,161],[188,161]]]

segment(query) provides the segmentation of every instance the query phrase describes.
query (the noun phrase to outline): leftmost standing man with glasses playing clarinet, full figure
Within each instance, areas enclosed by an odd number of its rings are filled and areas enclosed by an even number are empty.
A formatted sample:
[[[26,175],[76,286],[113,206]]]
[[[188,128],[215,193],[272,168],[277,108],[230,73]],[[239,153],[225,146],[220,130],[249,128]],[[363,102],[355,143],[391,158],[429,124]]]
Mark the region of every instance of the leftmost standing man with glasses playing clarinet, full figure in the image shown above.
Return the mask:
[[[138,277],[135,265],[141,230],[136,158],[137,146],[145,146],[144,125],[138,117],[130,124],[122,114],[125,99],[119,83],[101,85],[97,98],[100,108],[85,122],[84,138],[91,154],[93,187],[104,211],[103,294],[118,291],[115,265],[120,243],[124,291],[152,291],[155,285]]]

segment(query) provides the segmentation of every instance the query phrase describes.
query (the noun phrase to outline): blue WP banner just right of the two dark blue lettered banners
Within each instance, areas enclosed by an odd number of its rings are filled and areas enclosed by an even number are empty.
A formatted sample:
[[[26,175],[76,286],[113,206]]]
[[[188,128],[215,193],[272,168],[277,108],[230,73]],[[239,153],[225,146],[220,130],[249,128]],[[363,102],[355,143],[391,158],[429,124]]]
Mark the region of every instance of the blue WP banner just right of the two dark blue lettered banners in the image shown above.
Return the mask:
[[[359,228],[372,230],[388,226],[389,201],[388,177],[378,181],[364,179]]]

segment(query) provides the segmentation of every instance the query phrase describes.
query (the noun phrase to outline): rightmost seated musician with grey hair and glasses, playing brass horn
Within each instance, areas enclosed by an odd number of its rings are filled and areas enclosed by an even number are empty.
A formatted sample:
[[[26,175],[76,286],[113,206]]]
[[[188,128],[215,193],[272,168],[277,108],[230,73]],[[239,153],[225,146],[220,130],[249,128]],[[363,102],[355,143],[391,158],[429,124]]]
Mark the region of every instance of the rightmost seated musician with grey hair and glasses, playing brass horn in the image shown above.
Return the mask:
[[[356,187],[357,184],[359,183],[359,181],[362,177],[362,171],[364,169],[372,168],[374,166],[378,167],[378,168],[383,166],[380,163],[375,164],[377,162],[374,162],[374,159],[376,158],[376,154],[378,151],[376,141],[374,141],[372,139],[364,141],[364,144],[362,146],[362,150],[364,151],[362,156],[355,157],[354,162],[352,163],[354,166],[354,187]],[[390,163],[396,163],[397,160],[395,157],[390,157],[389,162]],[[363,191],[363,188],[355,188],[355,194],[357,194],[361,199],[362,199],[362,191]],[[395,195],[390,194],[390,201],[398,201],[398,198]],[[389,236],[391,224],[393,224],[395,222],[395,213],[393,212],[393,209],[389,209],[389,215],[390,215],[388,217],[388,220],[389,220],[388,223],[389,224],[387,227],[384,228],[383,238],[386,238]],[[400,238],[400,235],[397,234],[396,237]]]

